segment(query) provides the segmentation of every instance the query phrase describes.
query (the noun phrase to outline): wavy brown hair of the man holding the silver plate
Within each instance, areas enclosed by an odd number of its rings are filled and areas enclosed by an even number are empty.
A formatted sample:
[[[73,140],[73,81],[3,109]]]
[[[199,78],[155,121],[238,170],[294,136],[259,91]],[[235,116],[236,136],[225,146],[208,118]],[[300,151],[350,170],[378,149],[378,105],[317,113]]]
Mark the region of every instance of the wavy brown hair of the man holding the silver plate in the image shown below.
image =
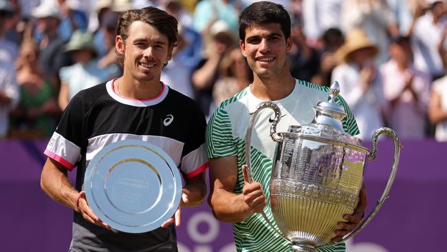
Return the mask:
[[[129,37],[129,29],[135,21],[142,21],[155,27],[160,33],[168,37],[168,46],[173,48],[177,45],[178,29],[177,19],[166,13],[164,10],[149,6],[137,10],[127,10],[120,14],[118,25],[116,26],[116,35],[121,36],[122,41]],[[122,63],[122,57],[118,54],[118,61]]]

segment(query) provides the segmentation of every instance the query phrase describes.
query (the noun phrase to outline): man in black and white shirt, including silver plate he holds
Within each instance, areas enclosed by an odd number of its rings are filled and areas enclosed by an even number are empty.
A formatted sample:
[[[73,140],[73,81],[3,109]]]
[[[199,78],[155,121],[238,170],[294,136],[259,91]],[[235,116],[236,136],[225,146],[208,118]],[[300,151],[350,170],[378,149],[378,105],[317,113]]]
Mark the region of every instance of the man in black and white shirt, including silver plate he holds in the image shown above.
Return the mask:
[[[74,209],[69,251],[177,251],[180,206],[204,200],[205,117],[160,81],[176,43],[177,20],[166,12],[123,12],[123,75],[79,92],[65,109],[41,187]],[[76,187],[67,177],[74,167]]]

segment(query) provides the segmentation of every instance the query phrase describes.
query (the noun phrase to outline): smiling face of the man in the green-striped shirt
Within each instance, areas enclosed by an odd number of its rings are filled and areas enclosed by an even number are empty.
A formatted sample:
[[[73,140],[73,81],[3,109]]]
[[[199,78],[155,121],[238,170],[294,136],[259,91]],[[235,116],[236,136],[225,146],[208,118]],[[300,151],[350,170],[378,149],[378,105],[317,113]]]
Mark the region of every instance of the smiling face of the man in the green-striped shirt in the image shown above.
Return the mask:
[[[245,41],[239,41],[243,56],[254,75],[276,78],[289,72],[287,52],[292,41],[285,36],[279,23],[251,25],[246,29]]]

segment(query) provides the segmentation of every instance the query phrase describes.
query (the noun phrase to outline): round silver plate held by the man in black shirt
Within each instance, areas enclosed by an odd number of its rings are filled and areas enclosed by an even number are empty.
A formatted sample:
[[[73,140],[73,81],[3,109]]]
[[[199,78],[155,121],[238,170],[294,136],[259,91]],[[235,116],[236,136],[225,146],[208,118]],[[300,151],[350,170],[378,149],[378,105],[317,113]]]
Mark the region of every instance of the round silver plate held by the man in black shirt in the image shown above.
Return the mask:
[[[113,229],[143,233],[171,218],[182,196],[182,178],[166,152],[142,140],[102,148],[84,178],[87,202]]]

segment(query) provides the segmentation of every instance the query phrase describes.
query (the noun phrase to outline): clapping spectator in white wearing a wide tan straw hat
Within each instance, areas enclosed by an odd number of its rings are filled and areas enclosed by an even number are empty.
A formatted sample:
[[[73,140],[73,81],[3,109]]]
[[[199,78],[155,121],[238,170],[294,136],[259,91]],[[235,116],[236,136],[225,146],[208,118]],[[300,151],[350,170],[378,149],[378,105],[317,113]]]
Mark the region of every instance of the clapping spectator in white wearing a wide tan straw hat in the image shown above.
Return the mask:
[[[373,64],[378,51],[363,30],[353,30],[336,51],[342,63],[332,72],[332,81],[340,83],[340,94],[351,107],[362,140],[370,139],[375,129],[384,125],[382,78]]]

